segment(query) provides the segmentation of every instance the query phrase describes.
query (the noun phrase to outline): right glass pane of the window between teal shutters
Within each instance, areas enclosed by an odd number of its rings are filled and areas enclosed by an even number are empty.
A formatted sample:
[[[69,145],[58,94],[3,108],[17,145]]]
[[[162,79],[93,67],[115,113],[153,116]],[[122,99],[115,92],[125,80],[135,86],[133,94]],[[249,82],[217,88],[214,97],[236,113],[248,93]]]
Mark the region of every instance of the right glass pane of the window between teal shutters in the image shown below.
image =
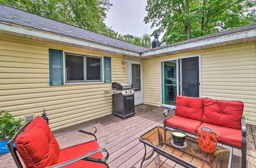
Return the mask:
[[[101,80],[101,59],[87,57],[86,72],[87,80]]]

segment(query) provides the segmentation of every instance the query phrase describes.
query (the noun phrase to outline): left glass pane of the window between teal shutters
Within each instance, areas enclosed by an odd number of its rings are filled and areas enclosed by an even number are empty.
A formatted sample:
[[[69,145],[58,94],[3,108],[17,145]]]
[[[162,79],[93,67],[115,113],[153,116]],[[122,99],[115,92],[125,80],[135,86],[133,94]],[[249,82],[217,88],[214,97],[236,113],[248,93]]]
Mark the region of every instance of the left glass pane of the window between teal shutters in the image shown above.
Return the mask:
[[[84,80],[83,57],[66,55],[67,80]]]

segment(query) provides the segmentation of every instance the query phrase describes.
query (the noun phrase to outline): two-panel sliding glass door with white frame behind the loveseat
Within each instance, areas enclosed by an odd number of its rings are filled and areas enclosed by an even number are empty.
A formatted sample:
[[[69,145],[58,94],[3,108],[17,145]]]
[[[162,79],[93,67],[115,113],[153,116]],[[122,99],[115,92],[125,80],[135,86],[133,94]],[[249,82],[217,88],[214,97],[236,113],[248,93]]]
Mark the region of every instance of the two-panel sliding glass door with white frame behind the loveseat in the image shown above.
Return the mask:
[[[175,106],[176,95],[199,97],[199,57],[161,62],[162,105]]]

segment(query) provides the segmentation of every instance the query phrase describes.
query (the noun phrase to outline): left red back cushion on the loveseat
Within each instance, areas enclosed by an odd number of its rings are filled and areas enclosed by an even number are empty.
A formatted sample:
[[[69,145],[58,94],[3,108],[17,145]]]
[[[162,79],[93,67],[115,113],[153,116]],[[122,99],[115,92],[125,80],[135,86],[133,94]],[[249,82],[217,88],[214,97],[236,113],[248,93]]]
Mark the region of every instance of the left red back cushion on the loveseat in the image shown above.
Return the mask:
[[[176,96],[175,115],[201,121],[203,116],[203,98]]]

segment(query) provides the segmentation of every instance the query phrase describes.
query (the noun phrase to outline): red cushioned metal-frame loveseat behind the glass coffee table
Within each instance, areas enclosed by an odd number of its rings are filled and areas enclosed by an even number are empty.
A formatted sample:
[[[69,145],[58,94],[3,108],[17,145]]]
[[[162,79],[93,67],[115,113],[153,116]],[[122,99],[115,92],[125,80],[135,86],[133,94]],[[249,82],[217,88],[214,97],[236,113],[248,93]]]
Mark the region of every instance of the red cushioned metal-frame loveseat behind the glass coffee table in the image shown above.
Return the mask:
[[[176,96],[175,115],[167,118],[164,110],[164,127],[181,129],[197,135],[206,126],[217,132],[218,142],[242,149],[242,167],[246,167],[246,125],[244,103],[209,98]]]

